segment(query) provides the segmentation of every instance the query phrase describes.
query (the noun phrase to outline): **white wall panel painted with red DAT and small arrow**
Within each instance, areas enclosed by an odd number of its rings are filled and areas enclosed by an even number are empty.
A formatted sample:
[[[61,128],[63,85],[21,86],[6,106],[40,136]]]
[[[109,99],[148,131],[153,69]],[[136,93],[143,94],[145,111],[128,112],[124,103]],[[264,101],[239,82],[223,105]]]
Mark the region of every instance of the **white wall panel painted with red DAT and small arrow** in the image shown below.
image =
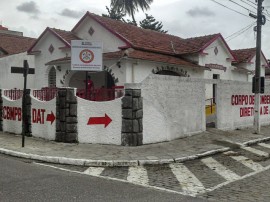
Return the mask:
[[[56,116],[56,98],[43,102],[32,97],[32,135],[47,140],[55,140],[56,120],[51,123],[47,116]]]

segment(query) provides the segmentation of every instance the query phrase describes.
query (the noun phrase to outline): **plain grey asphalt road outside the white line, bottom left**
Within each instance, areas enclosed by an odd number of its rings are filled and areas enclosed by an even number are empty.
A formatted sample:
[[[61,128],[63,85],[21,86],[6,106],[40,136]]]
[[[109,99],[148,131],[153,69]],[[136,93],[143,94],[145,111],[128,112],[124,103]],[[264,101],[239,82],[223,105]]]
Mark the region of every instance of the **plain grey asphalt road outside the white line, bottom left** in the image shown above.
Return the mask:
[[[203,201],[0,155],[0,201]]]

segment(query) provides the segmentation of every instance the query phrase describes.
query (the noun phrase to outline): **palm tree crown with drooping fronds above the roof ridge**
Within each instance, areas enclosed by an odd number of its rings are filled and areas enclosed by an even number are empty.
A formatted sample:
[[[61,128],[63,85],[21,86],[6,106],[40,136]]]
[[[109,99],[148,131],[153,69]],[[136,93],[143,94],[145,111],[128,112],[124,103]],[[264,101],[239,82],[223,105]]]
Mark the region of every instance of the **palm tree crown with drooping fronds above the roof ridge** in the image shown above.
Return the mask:
[[[134,14],[139,9],[148,10],[153,0],[111,0],[111,7],[132,17],[132,24],[137,26]]]

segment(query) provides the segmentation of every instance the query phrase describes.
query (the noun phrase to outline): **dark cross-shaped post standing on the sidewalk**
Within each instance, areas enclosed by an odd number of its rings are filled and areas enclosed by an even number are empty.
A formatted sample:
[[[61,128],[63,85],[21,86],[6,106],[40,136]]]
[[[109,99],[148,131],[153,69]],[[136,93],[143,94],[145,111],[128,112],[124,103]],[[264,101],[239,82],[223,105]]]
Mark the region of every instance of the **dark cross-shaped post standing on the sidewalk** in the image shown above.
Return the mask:
[[[27,116],[26,116],[26,87],[27,87],[27,75],[28,74],[35,74],[34,68],[29,68],[27,60],[23,61],[23,67],[11,67],[11,73],[17,73],[17,74],[23,74],[24,77],[24,85],[23,85],[23,99],[22,99],[22,147],[24,147],[24,141],[25,141],[25,130],[26,130],[26,122],[27,122]]]

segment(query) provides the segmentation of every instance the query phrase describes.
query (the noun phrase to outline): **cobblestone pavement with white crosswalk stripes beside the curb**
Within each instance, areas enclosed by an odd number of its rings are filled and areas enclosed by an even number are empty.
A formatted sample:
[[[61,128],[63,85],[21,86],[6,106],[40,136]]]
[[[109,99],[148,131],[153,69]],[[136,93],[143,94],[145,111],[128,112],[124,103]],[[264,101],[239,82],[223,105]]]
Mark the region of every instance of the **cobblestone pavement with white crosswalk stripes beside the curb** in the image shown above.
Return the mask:
[[[214,201],[269,201],[269,154],[270,142],[265,142],[234,147],[202,159],[159,166],[56,167]]]

